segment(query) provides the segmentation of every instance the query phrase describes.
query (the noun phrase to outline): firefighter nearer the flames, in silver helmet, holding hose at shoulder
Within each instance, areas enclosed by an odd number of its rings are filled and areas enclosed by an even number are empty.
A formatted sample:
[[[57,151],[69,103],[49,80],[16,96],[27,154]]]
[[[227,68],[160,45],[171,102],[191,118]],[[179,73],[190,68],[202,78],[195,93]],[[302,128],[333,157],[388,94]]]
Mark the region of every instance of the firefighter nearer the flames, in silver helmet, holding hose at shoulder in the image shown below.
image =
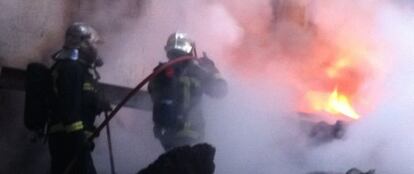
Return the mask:
[[[168,61],[183,56],[195,57],[194,42],[185,33],[173,33],[164,47]],[[157,68],[161,67],[160,63]],[[154,135],[165,150],[199,143],[204,137],[201,100],[204,94],[221,98],[227,83],[214,62],[205,54],[163,70],[150,80],[148,91],[153,101]]]

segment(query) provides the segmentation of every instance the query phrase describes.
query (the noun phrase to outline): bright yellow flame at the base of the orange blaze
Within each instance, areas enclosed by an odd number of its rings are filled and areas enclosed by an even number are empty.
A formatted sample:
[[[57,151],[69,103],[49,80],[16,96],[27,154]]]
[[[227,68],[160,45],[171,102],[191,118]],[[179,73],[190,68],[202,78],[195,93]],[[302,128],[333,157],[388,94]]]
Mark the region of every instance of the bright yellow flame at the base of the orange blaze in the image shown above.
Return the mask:
[[[337,88],[330,94],[314,91],[308,92],[306,97],[315,111],[323,111],[333,115],[345,115],[352,119],[359,118],[348,97],[339,93]]]

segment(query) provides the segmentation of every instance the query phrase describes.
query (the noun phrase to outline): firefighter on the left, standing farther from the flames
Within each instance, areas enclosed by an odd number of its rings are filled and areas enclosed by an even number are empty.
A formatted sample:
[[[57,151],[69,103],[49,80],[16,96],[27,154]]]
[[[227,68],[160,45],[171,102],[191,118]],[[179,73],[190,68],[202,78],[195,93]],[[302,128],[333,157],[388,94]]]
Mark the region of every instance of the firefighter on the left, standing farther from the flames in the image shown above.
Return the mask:
[[[66,30],[63,48],[54,56],[52,67],[55,106],[48,124],[51,173],[95,174],[91,157],[95,117],[110,110],[97,89],[98,35],[89,25],[73,23]]]

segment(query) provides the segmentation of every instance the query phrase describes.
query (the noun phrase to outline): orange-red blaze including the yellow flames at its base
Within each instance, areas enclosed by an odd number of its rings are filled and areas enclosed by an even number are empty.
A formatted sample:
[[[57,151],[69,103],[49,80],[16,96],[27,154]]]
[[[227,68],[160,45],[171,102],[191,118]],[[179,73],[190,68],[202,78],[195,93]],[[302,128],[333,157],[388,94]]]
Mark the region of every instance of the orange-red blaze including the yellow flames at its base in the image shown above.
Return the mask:
[[[304,88],[307,112],[322,112],[330,116],[359,119],[355,101],[359,101],[358,89],[362,83],[362,73],[357,59],[358,47],[345,52],[337,52],[326,59],[322,66],[311,70],[307,77],[316,81],[313,86]]]

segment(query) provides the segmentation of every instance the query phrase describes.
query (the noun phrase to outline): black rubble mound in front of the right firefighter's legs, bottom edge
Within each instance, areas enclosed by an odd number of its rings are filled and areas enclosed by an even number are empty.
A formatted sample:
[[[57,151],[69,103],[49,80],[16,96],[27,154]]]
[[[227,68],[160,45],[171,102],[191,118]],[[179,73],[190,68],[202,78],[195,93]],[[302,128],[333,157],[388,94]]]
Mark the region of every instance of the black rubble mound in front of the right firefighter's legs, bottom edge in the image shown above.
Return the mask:
[[[216,149],[209,144],[181,146],[165,152],[138,174],[213,174]]]

